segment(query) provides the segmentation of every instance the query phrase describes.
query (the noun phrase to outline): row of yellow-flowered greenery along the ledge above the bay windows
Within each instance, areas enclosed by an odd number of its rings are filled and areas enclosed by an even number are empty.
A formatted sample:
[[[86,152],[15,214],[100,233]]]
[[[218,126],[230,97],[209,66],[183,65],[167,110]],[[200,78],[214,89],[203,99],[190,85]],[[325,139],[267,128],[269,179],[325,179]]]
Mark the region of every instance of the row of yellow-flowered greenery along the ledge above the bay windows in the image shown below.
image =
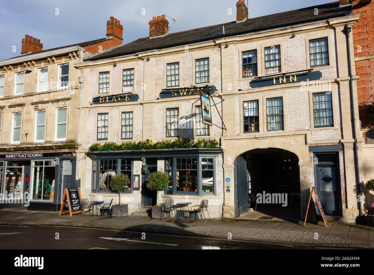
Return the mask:
[[[126,141],[121,144],[114,142],[105,142],[104,144],[93,143],[90,146],[90,151],[107,151],[107,150],[141,150],[141,149],[171,149],[171,148],[216,148],[219,142],[215,139],[199,139],[195,143],[189,138],[177,138],[174,141],[161,140],[153,143],[151,140],[146,141]]]

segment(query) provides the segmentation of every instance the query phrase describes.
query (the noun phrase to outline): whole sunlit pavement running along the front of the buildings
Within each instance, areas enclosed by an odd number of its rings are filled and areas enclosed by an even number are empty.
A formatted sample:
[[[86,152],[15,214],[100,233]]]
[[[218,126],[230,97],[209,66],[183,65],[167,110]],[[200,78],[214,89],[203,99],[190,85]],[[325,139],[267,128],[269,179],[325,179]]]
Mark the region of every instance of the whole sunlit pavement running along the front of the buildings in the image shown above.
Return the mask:
[[[203,221],[172,222],[144,216],[121,218],[95,217],[86,214],[27,211],[22,208],[0,210],[0,225],[68,226],[153,232],[188,236],[206,236],[269,243],[291,244],[299,248],[374,248],[374,228],[347,223],[328,223],[327,227],[307,223],[306,226],[288,221],[208,219]],[[181,220],[183,221],[183,220]]]

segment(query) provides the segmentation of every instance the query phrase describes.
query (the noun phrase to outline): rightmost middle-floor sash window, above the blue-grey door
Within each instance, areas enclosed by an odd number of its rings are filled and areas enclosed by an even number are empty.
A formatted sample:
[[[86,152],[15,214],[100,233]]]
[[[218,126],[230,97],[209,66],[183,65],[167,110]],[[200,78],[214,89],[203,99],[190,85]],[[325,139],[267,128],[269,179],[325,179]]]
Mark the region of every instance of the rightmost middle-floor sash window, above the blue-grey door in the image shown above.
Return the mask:
[[[331,92],[313,94],[313,117],[315,127],[333,126]]]

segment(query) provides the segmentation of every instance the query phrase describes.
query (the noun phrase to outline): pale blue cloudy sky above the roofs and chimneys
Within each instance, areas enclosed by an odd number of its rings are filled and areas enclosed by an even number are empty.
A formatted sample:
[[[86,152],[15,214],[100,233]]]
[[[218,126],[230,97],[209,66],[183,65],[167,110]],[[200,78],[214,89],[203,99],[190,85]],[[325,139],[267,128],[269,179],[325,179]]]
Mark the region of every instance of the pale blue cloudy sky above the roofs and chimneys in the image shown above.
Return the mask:
[[[329,3],[333,0],[249,0],[249,17]],[[59,15],[56,15],[58,9]],[[232,15],[228,14],[232,9]],[[142,15],[145,13],[145,15]],[[104,38],[114,16],[123,25],[123,43],[149,34],[148,21],[165,14],[176,21],[169,32],[236,20],[236,0],[16,0],[0,5],[0,60],[20,55],[25,34],[43,49]],[[172,20],[168,18],[169,26]],[[16,52],[12,47],[16,46]]]

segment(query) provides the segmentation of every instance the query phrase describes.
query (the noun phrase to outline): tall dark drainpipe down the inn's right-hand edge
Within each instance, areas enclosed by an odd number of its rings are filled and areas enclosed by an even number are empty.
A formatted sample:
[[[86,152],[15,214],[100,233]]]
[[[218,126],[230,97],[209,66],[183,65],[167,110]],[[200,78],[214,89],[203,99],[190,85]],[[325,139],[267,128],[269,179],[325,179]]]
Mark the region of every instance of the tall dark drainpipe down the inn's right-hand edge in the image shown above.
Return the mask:
[[[354,159],[355,159],[355,172],[356,172],[356,193],[357,195],[361,196],[361,184],[360,184],[360,170],[358,165],[358,147],[357,147],[357,135],[356,135],[356,118],[355,118],[355,106],[354,106],[354,97],[353,97],[353,81],[352,81],[352,64],[351,64],[351,55],[350,55],[350,45],[349,45],[349,33],[352,31],[352,28],[348,27],[348,24],[344,26],[344,33],[346,33],[346,40],[347,40],[347,53],[348,53],[348,68],[349,68],[349,90],[350,90],[350,98],[351,98],[351,121],[352,121],[352,128],[353,128],[353,139],[355,140],[353,143],[353,149],[355,151]],[[359,209],[359,221],[362,224],[363,216],[362,216],[362,205],[361,200],[358,202],[358,209]]]

